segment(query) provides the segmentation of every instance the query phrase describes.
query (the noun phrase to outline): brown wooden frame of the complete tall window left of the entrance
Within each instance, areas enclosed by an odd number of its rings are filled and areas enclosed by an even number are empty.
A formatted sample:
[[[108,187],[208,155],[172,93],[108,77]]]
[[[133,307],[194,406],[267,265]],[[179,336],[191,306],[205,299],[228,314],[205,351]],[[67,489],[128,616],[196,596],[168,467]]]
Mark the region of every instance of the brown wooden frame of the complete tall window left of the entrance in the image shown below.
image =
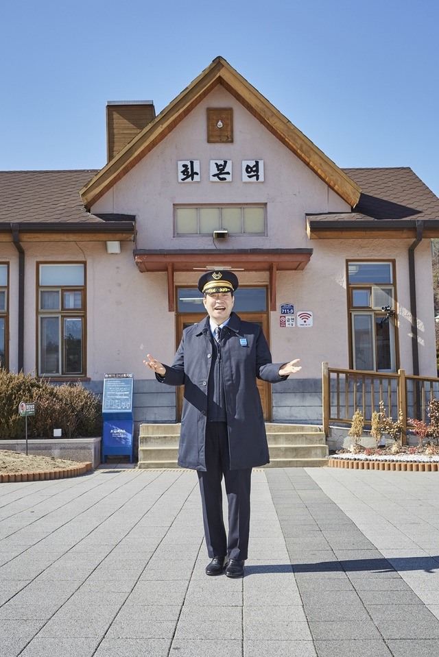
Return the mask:
[[[40,267],[45,265],[56,266],[69,266],[81,265],[83,267],[84,284],[60,284],[56,285],[51,282],[49,285],[40,284]],[[43,308],[43,293],[52,292],[58,293],[58,308]],[[80,293],[81,306],[80,308],[66,308],[64,305],[65,293]],[[78,379],[86,377],[86,262],[84,261],[50,261],[50,262],[36,262],[36,354],[37,354],[37,372],[40,377],[59,378],[62,380]],[[73,303],[73,305],[75,305]],[[47,372],[43,371],[42,363],[43,357],[43,319],[58,319],[58,371]],[[80,346],[80,363],[81,369],[77,372],[67,371],[67,343],[66,336],[64,335],[64,327],[66,320],[80,319],[81,321],[81,346]]]

